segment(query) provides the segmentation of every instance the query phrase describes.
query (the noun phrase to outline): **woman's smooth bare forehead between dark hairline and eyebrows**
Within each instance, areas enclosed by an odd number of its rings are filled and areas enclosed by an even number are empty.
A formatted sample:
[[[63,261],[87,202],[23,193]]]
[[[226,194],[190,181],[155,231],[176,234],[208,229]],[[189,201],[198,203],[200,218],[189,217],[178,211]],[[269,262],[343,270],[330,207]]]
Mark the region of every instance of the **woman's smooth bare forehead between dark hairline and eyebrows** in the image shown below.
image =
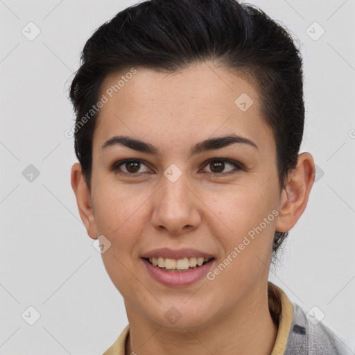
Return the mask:
[[[107,103],[98,112],[94,146],[123,134],[162,149],[230,133],[273,144],[257,88],[211,62],[173,73],[141,67],[112,73],[101,95]]]

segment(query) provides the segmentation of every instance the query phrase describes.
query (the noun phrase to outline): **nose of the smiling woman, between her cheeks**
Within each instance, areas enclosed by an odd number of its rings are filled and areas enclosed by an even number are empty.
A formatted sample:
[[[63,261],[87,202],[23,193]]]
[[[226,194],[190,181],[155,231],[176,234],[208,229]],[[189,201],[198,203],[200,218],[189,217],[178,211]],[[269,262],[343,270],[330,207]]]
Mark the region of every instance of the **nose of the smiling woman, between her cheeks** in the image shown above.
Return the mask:
[[[178,236],[195,230],[201,223],[202,202],[184,174],[175,182],[163,178],[155,193],[151,222],[160,231]]]

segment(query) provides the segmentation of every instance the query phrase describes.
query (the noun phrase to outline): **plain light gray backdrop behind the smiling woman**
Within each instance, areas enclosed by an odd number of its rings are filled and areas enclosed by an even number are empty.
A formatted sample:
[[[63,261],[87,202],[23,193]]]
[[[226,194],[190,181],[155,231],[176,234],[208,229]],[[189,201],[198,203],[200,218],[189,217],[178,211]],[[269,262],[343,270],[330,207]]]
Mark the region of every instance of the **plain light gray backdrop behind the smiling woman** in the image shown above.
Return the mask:
[[[80,221],[69,177],[73,141],[64,131],[73,124],[67,89],[83,45],[134,3],[0,0],[0,354],[102,354],[128,322]],[[302,151],[318,166],[270,280],[305,311],[317,306],[354,349],[355,1],[253,3],[300,39]],[[33,40],[21,33],[35,35],[30,21],[40,28]],[[29,306],[40,313],[33,325]]]

